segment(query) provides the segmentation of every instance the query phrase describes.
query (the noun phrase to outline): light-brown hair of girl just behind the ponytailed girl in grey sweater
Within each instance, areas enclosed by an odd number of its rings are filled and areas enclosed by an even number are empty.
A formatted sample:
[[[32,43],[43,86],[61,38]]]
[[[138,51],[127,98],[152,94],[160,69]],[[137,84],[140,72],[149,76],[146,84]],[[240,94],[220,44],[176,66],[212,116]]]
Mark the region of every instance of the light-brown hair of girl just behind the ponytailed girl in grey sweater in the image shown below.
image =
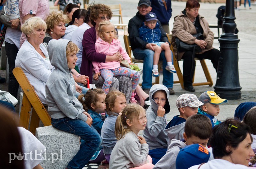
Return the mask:
[[[108,115],[114,115],[112,108],[114,108],[116,97],[120,95],[125,97],[124,93],[120,92],[119,90],[112,90],[106,95],[106,112]]]

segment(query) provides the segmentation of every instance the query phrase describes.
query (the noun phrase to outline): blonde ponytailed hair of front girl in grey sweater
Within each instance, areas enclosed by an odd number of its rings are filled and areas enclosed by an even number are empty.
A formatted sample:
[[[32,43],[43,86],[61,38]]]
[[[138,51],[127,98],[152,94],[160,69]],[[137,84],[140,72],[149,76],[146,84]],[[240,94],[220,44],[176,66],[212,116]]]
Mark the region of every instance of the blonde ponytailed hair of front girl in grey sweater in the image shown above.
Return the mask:
[[[139,104],[128,104],[124,107],[122,112],[116,118],[115,135],[117,140],[123,138],[126,132],[131,131],[127,128],[126,121],[128,119],[132,121],[134,118],[138,120],[141,111],[145,112],[145,109]]]

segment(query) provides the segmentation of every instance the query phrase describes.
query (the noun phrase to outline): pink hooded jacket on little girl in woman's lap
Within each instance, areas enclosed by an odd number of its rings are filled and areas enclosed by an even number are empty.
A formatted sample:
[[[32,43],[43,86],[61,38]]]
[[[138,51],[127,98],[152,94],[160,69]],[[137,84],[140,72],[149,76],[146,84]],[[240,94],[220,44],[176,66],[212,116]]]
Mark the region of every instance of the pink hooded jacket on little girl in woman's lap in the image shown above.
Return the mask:
[[[97,53],[106,54],[106,55],[113,55],[117,53],[118,51],[120,54],[123,54],[123,59],[127,60],[128,63],[131,63],[131,59],[129,55],[126,53],[124,48],[121,46],[121,42],[118,39],[113,39],[112,42],[109,44],[108,42],[105,42],[102,39],[96,40],[95,43],[95,50]],[[106,69],[116,69],[120,67],[120,63],[116,61],[112,62],[92,62],[93,65],[93,71],[95,73],[99,73],[100,69],[106,68]]]

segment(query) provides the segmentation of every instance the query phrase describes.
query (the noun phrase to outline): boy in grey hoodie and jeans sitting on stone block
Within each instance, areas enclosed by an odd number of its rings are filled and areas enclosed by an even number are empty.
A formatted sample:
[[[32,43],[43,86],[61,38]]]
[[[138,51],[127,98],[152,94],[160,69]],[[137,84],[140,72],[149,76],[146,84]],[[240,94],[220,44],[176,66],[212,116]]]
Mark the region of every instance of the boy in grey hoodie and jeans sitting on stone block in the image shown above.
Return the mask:
[[[101,145],[99,133],[91,126],[92,118],[75,97],[75,81],[70,74],[76,66],[78,48],[70,40],[52,39],[48,53],[55,67],[46,82],[46,102],[52,126],[81,137],[80,150],[67,168],[83,168]]]

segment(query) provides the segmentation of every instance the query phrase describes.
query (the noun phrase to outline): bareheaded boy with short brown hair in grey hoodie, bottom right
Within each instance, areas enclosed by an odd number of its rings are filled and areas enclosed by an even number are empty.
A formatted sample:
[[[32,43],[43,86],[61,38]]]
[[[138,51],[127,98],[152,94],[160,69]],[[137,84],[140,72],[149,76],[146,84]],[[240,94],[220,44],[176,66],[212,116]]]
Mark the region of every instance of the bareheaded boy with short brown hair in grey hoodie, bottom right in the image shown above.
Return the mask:
[[[208,117],[201,114],[188,117],[183,133],[184,142],[172,139],[168,151],[153,169],[176,169],[176,158],[180,149],[190,144],[201,144],[206,147],[211,134],[212,123]]]

